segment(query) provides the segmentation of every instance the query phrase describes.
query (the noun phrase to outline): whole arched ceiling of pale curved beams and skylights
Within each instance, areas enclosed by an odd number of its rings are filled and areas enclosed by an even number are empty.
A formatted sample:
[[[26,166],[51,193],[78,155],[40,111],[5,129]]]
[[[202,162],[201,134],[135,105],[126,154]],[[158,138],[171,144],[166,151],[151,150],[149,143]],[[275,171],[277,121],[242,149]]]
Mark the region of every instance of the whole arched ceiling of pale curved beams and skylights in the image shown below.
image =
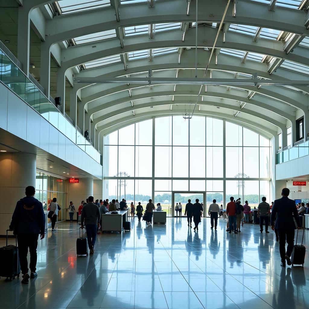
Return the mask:
[[[28,1],[28,0],[26,0]],[[46,22],[46,41],[67,40],[61,50],[61,72],[76,67],[79,77],[203,77],[222,19],[226,0],[104,0],[83,1],[87,9],[49,3],[58,16]],[[100,2],[100,3],[101,3]],[[307,11],[288,0],[231,1],[208,66],[207,78],[308,80],[309,30]],[[306,1],[305,1],[306,2]],[[271,4],[271,6],[269,6]],[[273,5],[275,4],[275,5]],[[236,14],[235,14],[236,7]],[[307,6],[304,6],[306,9]],[[77,10],[70,12],[70,10]],[[195,20],[198,20],[196,27]],[[197,44],[196,44],[196,29]],[[197,60],[195,48],[198,48]],[[308,112],[307,86],[207,86],[196,114],[230,119],[270,137],[294,125],[296,115]],[[98,137],[131,122],[152,116],[192,112],[197,85],[74,84],[70,116]],[[74,107],[75,95],[78,97]]]

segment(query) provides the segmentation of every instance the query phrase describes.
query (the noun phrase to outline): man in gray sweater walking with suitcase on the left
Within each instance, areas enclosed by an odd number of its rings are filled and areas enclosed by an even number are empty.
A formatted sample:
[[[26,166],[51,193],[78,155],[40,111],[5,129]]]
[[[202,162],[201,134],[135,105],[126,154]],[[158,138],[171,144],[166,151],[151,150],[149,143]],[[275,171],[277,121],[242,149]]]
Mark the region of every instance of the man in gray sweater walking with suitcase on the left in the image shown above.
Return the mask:
[[[81,214],[81,228],[86,227],[88,246],[90,254],[94,253],[97,227],[101,219],[98,205],[93,203],[93,196],[88,197],[89,203],[83,207]]]

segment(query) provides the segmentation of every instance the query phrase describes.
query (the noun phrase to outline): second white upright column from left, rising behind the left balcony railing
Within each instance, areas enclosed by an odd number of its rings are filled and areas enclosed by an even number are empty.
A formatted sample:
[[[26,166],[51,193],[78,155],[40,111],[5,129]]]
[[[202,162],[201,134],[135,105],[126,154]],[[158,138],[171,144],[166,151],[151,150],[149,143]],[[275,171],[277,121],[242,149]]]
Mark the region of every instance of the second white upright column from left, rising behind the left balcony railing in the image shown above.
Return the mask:
[[[50,93],[50,47],[49,43],[41,43],[40,84],[44,87],[47,98]]]

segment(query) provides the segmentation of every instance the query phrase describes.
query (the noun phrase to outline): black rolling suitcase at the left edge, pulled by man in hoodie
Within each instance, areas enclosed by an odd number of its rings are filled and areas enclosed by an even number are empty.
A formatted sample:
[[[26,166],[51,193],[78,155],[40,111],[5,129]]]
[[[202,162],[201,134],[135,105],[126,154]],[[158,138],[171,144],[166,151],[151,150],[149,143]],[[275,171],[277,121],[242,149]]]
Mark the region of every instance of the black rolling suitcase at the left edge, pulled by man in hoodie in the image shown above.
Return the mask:
[[[17,238],[16,246],[7,245],[7,232],[6,230],[6,246],[0,248],[0,277],[6,277],[6,279],[13,280],[15,277],[19,278],[20,274],[20,264],[19,264],[19,254],[17,248]]]

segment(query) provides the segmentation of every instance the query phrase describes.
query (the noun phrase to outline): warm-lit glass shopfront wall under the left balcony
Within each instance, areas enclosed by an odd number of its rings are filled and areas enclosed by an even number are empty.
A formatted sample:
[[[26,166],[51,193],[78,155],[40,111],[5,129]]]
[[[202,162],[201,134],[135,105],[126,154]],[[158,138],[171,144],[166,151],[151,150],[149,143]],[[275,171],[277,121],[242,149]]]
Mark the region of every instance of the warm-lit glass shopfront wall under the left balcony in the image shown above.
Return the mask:
[[[57,198],[57,203],[61,207],[57,220],[66,220],[66,179],[36,171],[35,198],[43,204],[44,210],[48,210],[54,197]]]

